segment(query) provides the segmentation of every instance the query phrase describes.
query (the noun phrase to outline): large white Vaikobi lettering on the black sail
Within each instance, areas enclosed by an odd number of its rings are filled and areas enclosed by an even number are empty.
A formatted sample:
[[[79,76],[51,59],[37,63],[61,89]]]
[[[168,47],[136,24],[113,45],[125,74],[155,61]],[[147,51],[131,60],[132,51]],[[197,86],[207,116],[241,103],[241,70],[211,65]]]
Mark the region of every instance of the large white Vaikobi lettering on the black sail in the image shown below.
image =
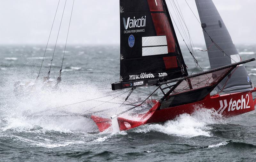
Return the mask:
[[[127,18],[127,21],[125,20],[125,18],[123,18],[123,22],[124,22],[124,28],[125,30],[129,28],[134,28],[134,27],[144,27],[146,26],[146,16],[144,18],[144,16],[142,16],[141,18],[135,18],[135,16],[133,17],[133,19]]]

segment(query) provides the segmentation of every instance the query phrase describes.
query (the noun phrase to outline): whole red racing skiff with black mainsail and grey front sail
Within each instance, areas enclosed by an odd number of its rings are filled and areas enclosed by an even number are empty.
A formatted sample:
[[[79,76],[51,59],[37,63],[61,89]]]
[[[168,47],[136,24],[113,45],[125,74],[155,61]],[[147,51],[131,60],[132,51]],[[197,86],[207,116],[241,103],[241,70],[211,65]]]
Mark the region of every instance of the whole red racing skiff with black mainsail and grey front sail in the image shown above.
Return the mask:
[[[88,116],[100,132],[165,122],[183,113],[192,114],[198,107],[213,108],[223,116],[255,109],[252,92],[256,88],[243,65],[255,59],[241,60],[211,0],[196,0],[196,6],[211,70],[188,75],[165,0],[120,0],[120,81],[112,84],[112,90],[132,88],[132,92],[136,87],[156,86],[163,97],[151,99],[154,106],[144,114],[127,117],[126,112],[150,95],[110,119]],[[218,93],[211,95],[213,90]]]

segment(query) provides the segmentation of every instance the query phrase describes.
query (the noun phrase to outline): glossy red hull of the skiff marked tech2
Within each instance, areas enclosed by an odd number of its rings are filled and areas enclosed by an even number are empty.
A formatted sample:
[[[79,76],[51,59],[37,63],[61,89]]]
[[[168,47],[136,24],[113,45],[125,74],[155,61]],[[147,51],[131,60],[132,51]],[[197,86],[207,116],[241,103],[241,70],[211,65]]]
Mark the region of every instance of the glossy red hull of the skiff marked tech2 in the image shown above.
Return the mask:
[[[223,95],[207,95],[204,99],[198,102],[193,102],[176,107],[158,109],[160,103],[157,102],[147,113],[139,115],[139,120],[132,120],[124,118],[123,115],[117,117],[120,131],[128,130],[138,127],[143,124],[154,122],[165,122],[172,120],[180,114],[192,114],[198,108],[215,109],[216,112],[221,113],[225,117],[244,114],[255,109],[256,99],[253,101],[252,91],[238,92]],[[111,119],[101,118],[98,116],[91,116],[97,124],[100,132],[112,126]],[[131,117],[132,118],[132,117]]]

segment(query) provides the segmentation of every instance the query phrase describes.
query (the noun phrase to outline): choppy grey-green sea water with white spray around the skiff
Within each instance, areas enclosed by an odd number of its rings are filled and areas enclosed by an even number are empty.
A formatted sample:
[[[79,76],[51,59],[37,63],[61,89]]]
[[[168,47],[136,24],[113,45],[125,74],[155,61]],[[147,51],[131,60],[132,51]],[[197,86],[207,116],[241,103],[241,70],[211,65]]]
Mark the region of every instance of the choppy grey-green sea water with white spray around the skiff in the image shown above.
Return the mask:
[[[255,45],[237,48],[243,60],[256,57]],[[35,82],[44,46],[1,45],[0,161],[255,160],[255,111],[225,119],[213,110],[199,109],[172,121],[118,133],[99,133],[96,124],[84,117],[58,116],[108,109],[99,115],[110,117],[129,108],[120,107],[127,93],[120,94],[128,89],[111,91],[111,83],[119,80],[118,45],[77,45],[66,48],[59,89],[43,90],[43,77],[49,71],[53,49],[46,50],[36,88],[15,95],[15,82]],[[205,47],[195,47],[194,53],[203,70],[209,70],[207,52],[198,49]],[[63,46],[57,46],[54,54],[50,73],[54,80],[59,76],[63,50]],[[182,47],[182,53],[188,73],[200,72],[188,50]],[[244,66],[256,85],[255,62]],[[148,89],[141,91],[148,93]],[[133,93],[129,99],[136,103],[145,97]],[[29,114],[36,116],[29,117]]]

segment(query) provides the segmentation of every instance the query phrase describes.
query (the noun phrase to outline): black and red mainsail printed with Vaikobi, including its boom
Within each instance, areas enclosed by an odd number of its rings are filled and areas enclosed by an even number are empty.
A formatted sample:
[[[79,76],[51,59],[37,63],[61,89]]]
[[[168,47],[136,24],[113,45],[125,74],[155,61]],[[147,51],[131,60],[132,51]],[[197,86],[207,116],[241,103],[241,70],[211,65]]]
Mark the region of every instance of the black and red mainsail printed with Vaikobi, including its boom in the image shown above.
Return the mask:
[[[120,83],[156,84],[188,75],[164,0],[120,0]]]

